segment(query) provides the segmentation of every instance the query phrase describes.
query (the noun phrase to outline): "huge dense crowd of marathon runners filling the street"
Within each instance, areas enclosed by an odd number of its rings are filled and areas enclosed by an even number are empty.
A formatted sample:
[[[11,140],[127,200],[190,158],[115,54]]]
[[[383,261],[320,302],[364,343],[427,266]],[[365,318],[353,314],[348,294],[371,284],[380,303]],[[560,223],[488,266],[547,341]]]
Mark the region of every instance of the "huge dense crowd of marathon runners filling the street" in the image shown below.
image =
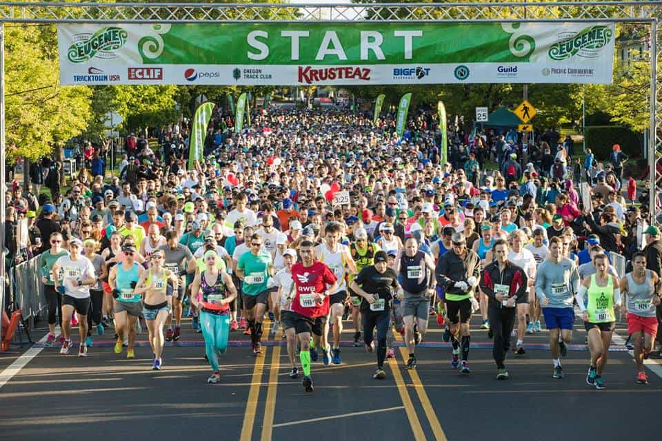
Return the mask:
[[[94,335],[110,333],[114,352],[134,358],[146,327],[158,370],[164,343],[180,339],[190,316],[208,382],[221,380],[219,354],[243,332],[256,356],[263,338],[284,338],[290,377],[312,391],[320,356],[325,365],[343,360],[347,320],[354,347],[375,353],[376,379],[398,333],[405,367],[416,369],[431,315],[452,345],[448,363],[468,375],[470,318],[480,314],[496,378],[509,378],[507,354],[525,353],[544,324],[550,373],[561,379],[578,314],[586,381],[603,389],[620,308],[636,382],[646,384],[662,242],[656,227],[641,229],[647,208],[623,197],[620,147],[605,163],[590,151],[576,163],[580,152],[554,130],[523,143],[521,134],[451,125],[445,162],[435,117],[415,114],[398,136],[389,117],[373,125],[346,110],[274,107],[232,134],[232,120],[217,114],[192,168],[188,127],[176,124],[160,130],[157,155],[129,139],[121,179],[81,172],[34,209],[15,189],[10,216],[28,217],[40,259],[46,345],[85,357]],[[587,181],[590,195],[580,195]],[[343,192],[348,203],[338,203]],[[619,277],[610,252],[628,257],[627,274]]]

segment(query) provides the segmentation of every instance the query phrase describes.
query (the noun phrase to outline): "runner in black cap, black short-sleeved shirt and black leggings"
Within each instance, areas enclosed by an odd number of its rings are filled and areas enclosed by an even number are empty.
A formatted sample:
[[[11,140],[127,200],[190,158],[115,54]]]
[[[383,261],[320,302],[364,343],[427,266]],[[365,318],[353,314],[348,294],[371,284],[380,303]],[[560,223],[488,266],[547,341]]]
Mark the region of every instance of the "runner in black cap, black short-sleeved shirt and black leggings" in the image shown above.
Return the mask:
[[[393,292],[402,298],[398,275],[388,267],[388,256],[383,251],[374,254],[374,265],[364,267],[352,280],[350,289],[363,297],[361,301],[361,321],[365,349],[372,352],[374,341],[372,331],[377,327],[377,370],[372,378],[386,378],[383,365],[386,358],[386,333],[390,318],[390,302]]]

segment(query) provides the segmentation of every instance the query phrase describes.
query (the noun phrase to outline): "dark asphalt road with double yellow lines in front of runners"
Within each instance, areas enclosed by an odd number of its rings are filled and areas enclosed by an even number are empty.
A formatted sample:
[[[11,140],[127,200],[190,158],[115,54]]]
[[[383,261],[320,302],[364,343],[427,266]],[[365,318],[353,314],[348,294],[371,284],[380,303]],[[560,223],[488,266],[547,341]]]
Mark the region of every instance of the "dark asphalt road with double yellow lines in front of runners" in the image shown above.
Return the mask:
[[[352,325],[345,325],[343,363],[325,366],[321,357],[313,363],[313,393],[289,378],[284,340],[265,338],[263,355],[254,357],[240,332],[232,333],[221,358],[221,382],[206,384],[203,341],[188,321],[181,342],[168,344],[161,371],[150,369],[144,333],[134,360],[113,353],[108,334],[97,338],[88,358],[62,356],[57,348],[12,349],[0,354],[0,370],[21,353],[39,353],[0,386],[0,440],[604,441],[654,433],[662,378],[647,368],[650,384],[636,384],[632,357],[616,345],[603,375],[608,389],[588,386],[583,327],[563,360],[564,380],[552,379],[550,353],[538,349],[547,340],[543,331],[527,336],[526,354],[509,354],[511,379],[499,382],[478,317],[470,376],[452,369],[450,348],[432,322],[417,349],[416,371],[403,369],[407,354],[398,347],[387,378],[373,380],[374,353],[351,347]],[[625,335],[623,325],[617,330]],[[659,360],[649,366],[662,373]]]

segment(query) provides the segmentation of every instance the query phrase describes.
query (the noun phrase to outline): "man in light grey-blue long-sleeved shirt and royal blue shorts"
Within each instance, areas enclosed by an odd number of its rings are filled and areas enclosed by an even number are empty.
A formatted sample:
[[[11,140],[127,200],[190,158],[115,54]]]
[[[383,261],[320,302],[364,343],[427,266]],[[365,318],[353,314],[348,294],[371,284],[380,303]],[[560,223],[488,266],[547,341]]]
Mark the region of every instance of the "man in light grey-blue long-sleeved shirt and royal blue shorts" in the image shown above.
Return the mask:
[[[545,316],[545,325],[550,330],[550,349],[554,362],[552,378],[563,378],[563,367],[559,353],[565,357],[572,340],[574,309],[572,298],[579,289],[579,271],[569,258],[563,257],[563,241],[559,237],[550,239],[550,254],[536,272],[536,297]],[[559,342],[559,336],[561,341]]]

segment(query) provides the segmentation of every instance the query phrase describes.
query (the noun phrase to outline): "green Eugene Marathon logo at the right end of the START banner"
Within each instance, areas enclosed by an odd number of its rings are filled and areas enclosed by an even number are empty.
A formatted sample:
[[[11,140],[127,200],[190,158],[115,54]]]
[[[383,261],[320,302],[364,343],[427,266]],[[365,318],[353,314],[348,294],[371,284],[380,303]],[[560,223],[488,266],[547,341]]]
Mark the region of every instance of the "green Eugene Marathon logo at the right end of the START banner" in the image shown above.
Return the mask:
[[[576,34],[563,33],[559,35],[561,41],[552,44],[548,55],[550,59],[561,61],[577,55],[583,58],[599,57],[599,52],[612,39],[612,28],[603,25],[594,25],[577,32]]]

